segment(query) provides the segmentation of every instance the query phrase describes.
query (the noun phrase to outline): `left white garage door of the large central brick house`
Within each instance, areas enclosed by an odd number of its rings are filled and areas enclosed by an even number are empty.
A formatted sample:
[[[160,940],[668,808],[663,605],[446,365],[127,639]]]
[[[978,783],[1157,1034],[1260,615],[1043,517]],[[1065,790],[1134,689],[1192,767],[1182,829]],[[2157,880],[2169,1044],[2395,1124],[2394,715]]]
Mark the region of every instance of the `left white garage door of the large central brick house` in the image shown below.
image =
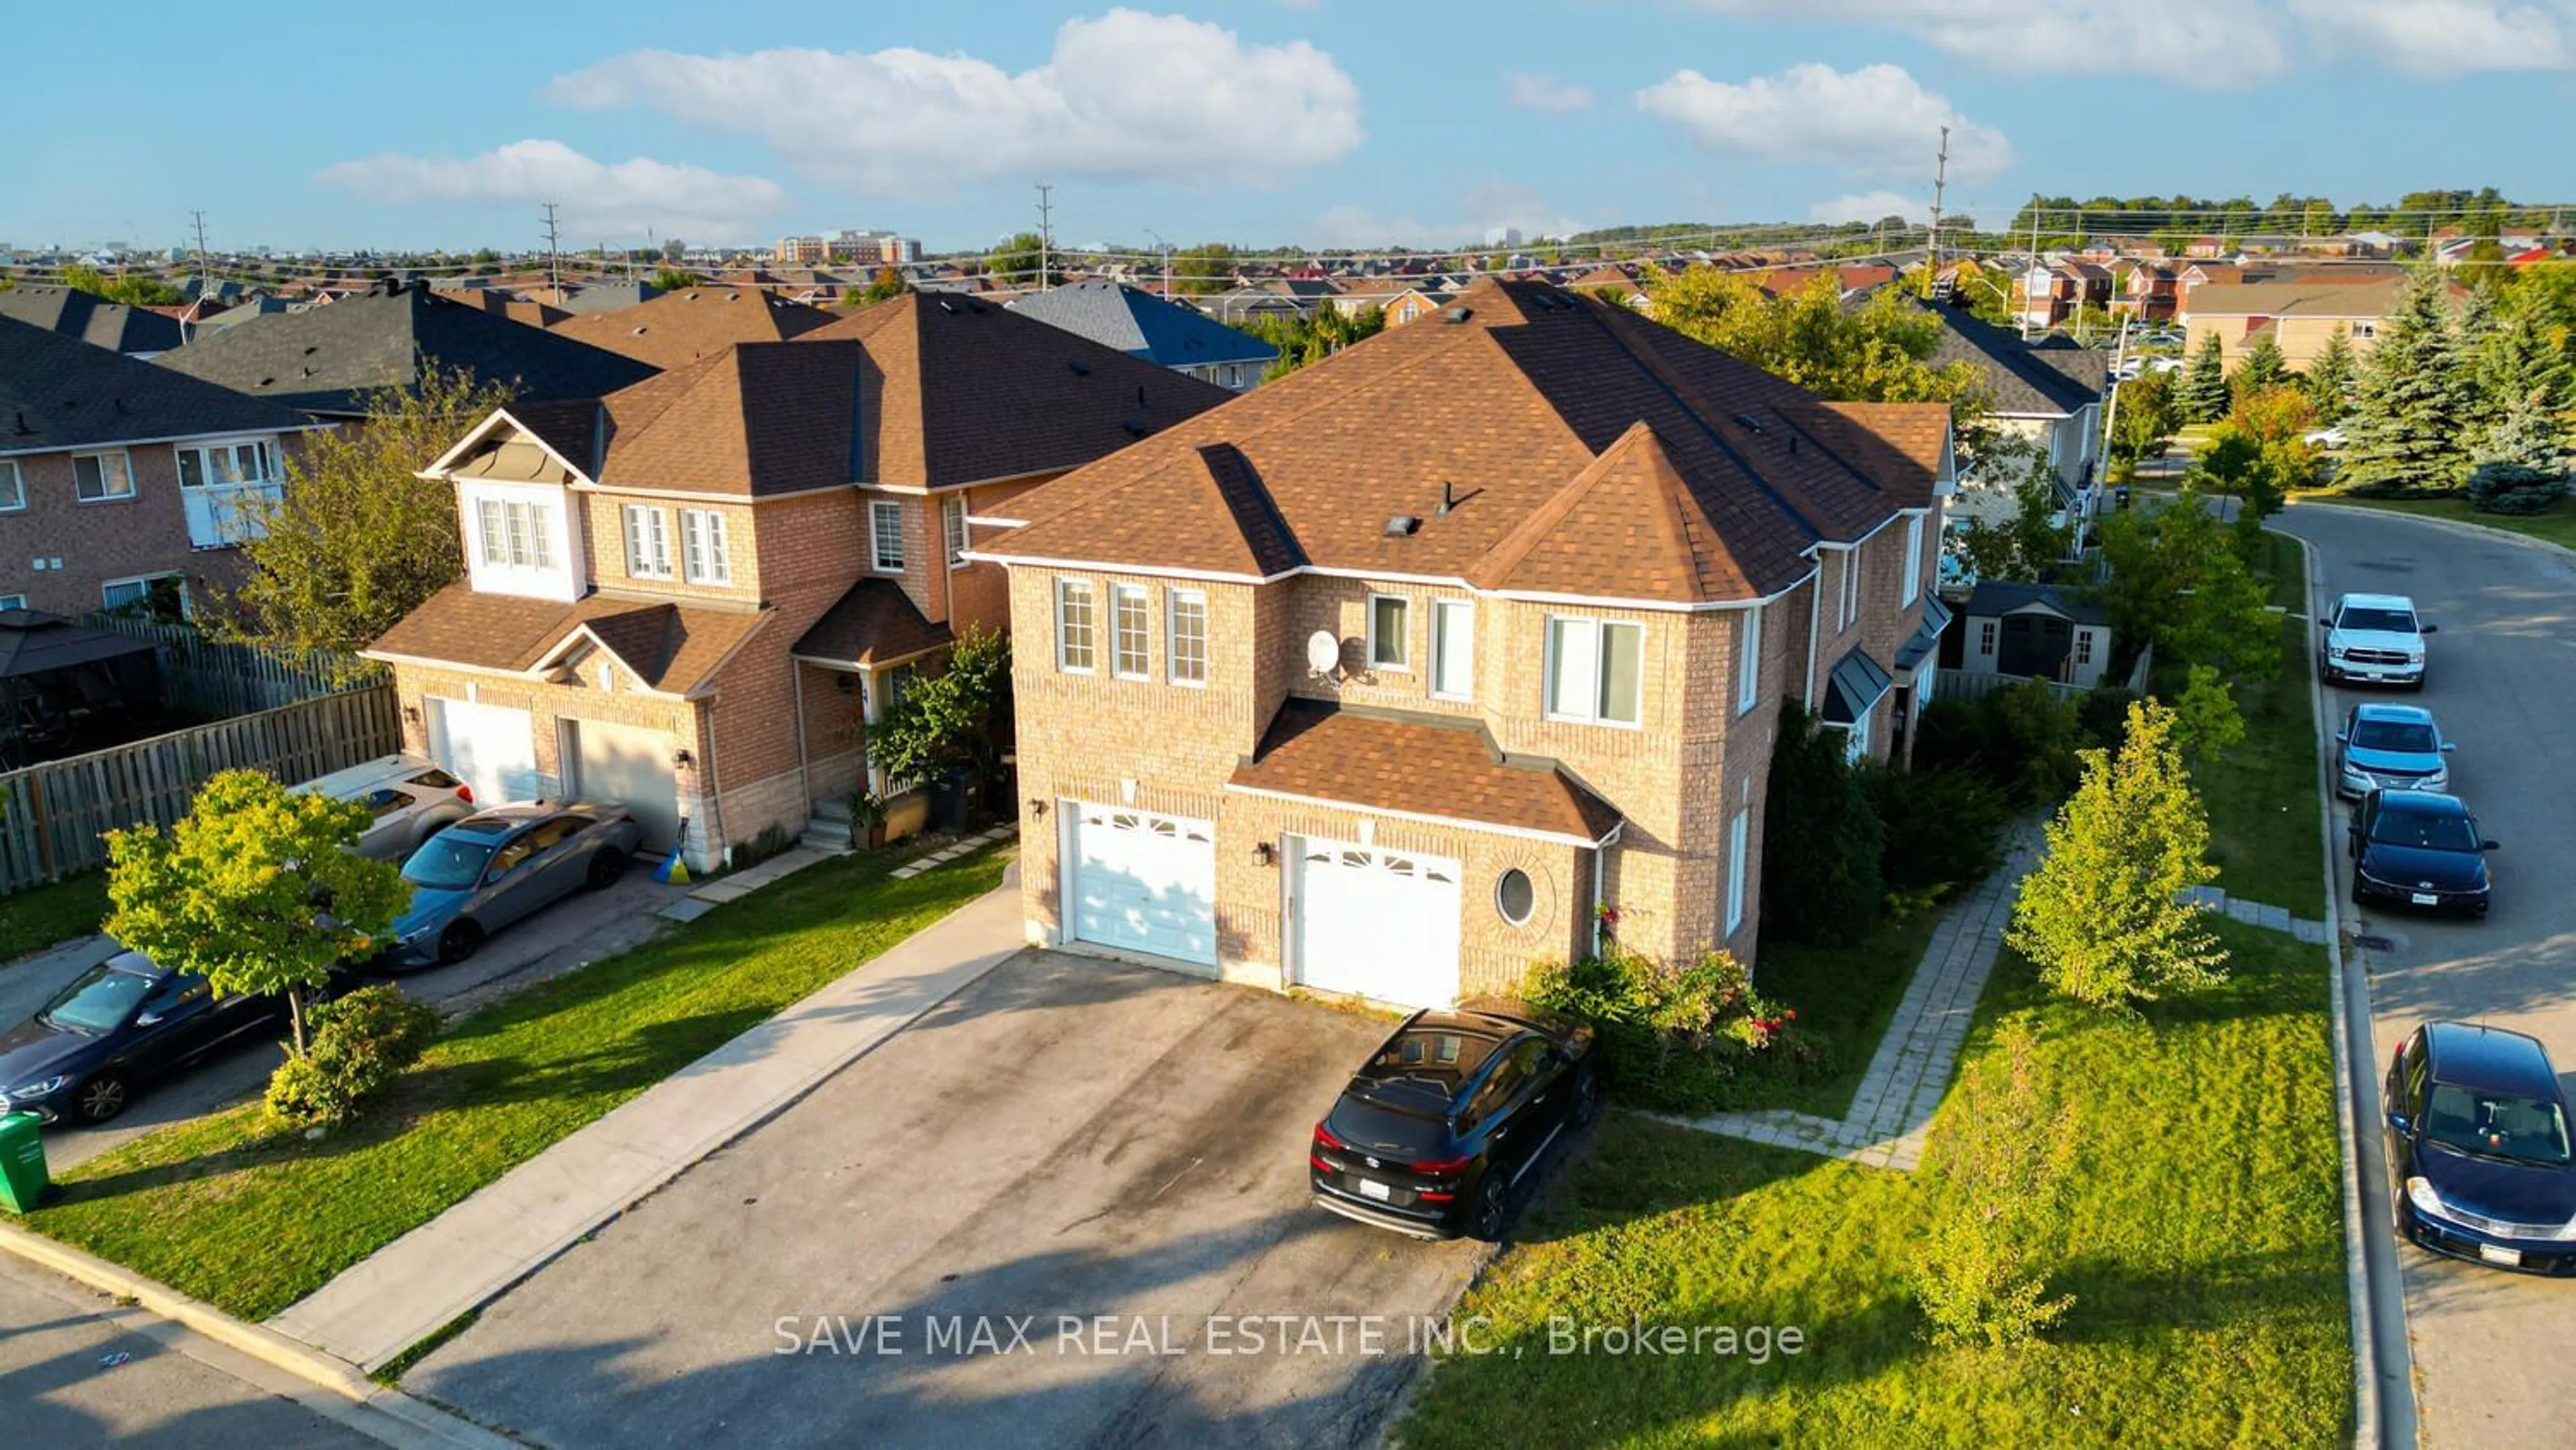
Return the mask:
[[[1216,966],[1216,824],[1082,801],[1064,811],[1069,932]]]

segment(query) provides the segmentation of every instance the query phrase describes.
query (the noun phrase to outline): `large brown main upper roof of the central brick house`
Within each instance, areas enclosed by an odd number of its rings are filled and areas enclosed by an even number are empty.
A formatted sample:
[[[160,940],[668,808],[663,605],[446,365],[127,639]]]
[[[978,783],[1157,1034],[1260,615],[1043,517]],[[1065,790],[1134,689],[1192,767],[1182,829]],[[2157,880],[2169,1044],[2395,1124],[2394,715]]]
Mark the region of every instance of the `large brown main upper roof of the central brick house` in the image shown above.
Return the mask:
[[[1198,487],[1216,443],[1316,567],[1530,569],[1605,598],[1765,598],[1806,577],[1816,541],[1862,538],[1929,502],[1942,404],[1824,404],[1553,286],[1486,281],[1461,304],[1463,322],[1370,337],[1012,500],[1025,528],[984,551],[1249,574],[1239,561],[1260,551]],[[1641,425],[1649,438],[1631,440]],[[1620,443],[1633,456],[1602,469]],[[1419,528],[1388,533],[1394,515]],[[1525,536],[1538,515],[1564,541]]]

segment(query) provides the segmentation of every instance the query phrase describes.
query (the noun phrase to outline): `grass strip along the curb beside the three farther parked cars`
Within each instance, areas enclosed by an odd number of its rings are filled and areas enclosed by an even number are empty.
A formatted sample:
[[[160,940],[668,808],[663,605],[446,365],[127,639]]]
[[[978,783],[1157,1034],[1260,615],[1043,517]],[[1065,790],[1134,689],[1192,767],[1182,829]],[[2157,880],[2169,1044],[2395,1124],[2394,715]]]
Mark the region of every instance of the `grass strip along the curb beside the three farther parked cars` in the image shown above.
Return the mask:
[[[2295,538],[2264,533],[2272,549],[2272,603],[2306,613],[2308,574]],[[2311,649],[2303,618],[2282,621],[2280,672],[2239,680],[2236,708],[2246,739],[2226,760],[2200,767],[2210,806],[2210,860],[2228,896],[2326,914],[2326,863],[2316,814],[2316,713],[2308,690]]]

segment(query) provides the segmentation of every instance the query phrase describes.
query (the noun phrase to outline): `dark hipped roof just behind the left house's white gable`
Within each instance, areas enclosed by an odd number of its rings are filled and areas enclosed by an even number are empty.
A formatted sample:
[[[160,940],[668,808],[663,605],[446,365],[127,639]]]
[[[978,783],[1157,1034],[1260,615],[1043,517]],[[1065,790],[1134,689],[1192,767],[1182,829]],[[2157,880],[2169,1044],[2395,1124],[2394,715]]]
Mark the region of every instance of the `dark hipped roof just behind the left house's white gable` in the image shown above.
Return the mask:
[[[649,363],[448,301],[428,283],[379,283],[330,306],[252,317],[155,358],[325,420],[363,417],[371,391],[417,389],[425,361],[510,384],[518,402],[595,399],[654,373]]]

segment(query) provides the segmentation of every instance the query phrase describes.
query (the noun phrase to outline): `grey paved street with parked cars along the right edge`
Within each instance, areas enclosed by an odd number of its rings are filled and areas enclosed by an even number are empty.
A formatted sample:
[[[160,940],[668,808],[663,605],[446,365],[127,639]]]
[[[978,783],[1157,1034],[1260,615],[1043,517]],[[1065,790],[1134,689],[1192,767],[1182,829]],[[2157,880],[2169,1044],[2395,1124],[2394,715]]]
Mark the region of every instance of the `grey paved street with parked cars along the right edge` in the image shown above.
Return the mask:
[[[2568,891],[2576,778],[2558,749],[2576,721],[2576,556],[2331,505],[2293,507],[2275,525],[2318,546],[2324,598],[2414,595],[2439,626],[2427,688],[2409,698],[2460,742],[2452,788],[2486,834],[2504,842],[2491,863],[2494,914],[2483,922],[2347,907],[2347,930],[2388,943],[2360,953],[2370,979],[2372,1082],[2429,1017],[2483,1017],[2532,1033],[2561,1069],[2576,1069],[2576,891]],[[2326,698],[2342,719],[2362,695]],[[2336,894],[2349,904],[2349,865],[2336,860]],[[2576,1089],[2576,1071],[2563,1079]],[[2385,1192],[2385,1182],[2372,1136],[2365,1198]],[[2370,1231],[2385,1236],[2388,1203],[2365,1208],[2375,1208]],[[2566,1375],[2548,1365],[2555,1347],[2576,1339],[2576,1283],[2491,1272],[2414,1247],[2393,1259],[2406,1285],[2427,1442],[2568,1445],[2576,1432]]]

